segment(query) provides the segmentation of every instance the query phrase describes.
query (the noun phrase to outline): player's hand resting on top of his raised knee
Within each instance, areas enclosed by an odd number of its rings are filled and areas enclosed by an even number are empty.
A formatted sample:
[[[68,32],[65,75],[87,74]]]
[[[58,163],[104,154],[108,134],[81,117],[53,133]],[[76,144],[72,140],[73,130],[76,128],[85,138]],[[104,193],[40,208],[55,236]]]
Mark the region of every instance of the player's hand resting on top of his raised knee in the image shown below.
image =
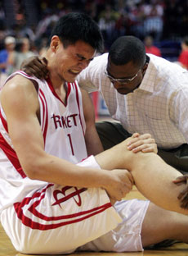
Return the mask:
[[[140,135],[134,133],[132,139],[128,143],[128,150],[137,153],[139,151],[143,153],[154,152],[157,153],[157,144],[150,134]]]

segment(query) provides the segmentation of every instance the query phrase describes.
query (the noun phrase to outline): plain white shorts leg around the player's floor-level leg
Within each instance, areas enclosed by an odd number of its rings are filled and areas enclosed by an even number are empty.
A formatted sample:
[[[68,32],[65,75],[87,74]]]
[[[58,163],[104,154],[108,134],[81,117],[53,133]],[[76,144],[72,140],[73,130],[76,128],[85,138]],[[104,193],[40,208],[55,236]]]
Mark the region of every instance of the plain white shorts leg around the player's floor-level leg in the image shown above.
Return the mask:
[[[79,251],[135,252],[143,251],[141,226],[149,206],[148,200],[122,200],[114,204],[123,222],[105,235],[78,248]]]

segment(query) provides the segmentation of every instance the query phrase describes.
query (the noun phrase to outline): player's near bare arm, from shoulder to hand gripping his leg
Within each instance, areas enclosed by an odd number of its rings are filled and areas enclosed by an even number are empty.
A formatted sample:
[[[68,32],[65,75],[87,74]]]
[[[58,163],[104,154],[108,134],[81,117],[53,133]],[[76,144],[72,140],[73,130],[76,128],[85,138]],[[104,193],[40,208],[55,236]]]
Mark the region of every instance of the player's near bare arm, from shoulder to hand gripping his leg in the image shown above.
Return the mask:
[[[124,185],[127,171],[78,167],[44,151],[38,121],[38,95],[31,81],[20,75],[13,77],[2,89],[1,102],[12,144],[29,178],[60,185],[103,187],[105,190],[110,188],[110,194],[115,199],[128,193]]]

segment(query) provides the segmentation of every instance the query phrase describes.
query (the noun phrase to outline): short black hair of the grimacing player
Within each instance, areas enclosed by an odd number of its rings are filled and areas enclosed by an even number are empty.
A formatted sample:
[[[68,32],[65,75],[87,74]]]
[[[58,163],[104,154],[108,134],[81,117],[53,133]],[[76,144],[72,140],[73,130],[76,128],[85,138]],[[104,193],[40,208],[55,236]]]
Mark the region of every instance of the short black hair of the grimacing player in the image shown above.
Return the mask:
[[[103,50],[103,38],[101,31],[95,21],[90,16],[81,12],[70,12],[60,17],[51,31],[47,47],[50,46],[51,38],[57,35],[66,48],[69,44],[74,44],[78,40],[88,43],[98,52]]]

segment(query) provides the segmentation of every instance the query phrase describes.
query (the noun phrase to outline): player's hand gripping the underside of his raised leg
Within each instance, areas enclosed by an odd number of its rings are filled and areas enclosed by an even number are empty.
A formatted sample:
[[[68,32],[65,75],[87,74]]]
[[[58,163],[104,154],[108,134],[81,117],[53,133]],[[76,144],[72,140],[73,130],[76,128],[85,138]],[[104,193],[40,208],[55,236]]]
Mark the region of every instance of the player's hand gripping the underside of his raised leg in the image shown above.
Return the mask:
[[[124,169],[110,171],[111,181],[105,187],[112,203],[123,199],[132,190],[134,183],[131,173]]]

